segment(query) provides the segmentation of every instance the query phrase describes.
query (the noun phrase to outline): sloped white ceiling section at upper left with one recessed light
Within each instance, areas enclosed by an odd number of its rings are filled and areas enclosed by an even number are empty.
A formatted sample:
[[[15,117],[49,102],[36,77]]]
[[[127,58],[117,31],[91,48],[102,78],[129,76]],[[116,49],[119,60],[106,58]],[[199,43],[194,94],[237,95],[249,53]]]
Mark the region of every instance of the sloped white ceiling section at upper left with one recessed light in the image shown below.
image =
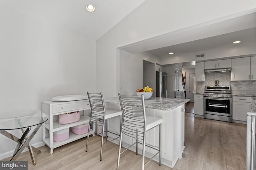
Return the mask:
[[[0,0],[0,5],[97,40],[144,1]],[[87,4],[93,4],[96,10],[86,11]]]

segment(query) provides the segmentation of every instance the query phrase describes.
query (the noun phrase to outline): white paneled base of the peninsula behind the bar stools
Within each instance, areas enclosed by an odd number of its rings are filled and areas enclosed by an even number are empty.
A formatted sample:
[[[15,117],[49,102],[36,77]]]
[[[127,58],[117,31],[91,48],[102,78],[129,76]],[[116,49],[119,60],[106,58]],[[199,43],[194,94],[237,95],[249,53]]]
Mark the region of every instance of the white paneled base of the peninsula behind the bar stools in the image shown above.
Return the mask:
[[[177,100],[177,99],[173,99]],[[189,100],[184,100],[184,104]],[[106,102],[106,100],[105,100]],[[146,100],[145,100],[146,102]],[[146,108],[146,115],[160,117],[163,119],[163,123],[161,126],[161,137],[162,137],[162,164],[173,168],[176,164],[178,158],[182,158],[182,153],[184,150],[184,104],[171,109],[171,110],[160,110],[160,109],[152,109]],[[145,104],[146,105],[146,104]],[[120,109],[120,104],[111,104],[106,102],[106,108],[114,108]],[[119,117],[110,119],[108,122],[108,130],[114,131],[116,133],[120,133],[120,119]],[[146,133],[146,143],[151,145],[152,147],[159,147],[158,141],[158,127],[151,129]],[[109,133],[109,139],[114,139],[116,136]],[[119,145],[119,139],[113,141],[114,143]],[[122,146],[128,147],[132,143],[135,142],[135,139],[123,135]],[[142,153],[142,145],[138,145],[139,150],[138,153]],[[136,152],[135,145],[134,147],[130,147],[130,150]],[[146,147],[145,156],[151,158],[156,154],[156,150],[150,149]],[[118,152],[118,151],[117,151]],[[124,153],[125,154],[125,153]],[[159,162],[158,155],[154,157],[154,160]]]

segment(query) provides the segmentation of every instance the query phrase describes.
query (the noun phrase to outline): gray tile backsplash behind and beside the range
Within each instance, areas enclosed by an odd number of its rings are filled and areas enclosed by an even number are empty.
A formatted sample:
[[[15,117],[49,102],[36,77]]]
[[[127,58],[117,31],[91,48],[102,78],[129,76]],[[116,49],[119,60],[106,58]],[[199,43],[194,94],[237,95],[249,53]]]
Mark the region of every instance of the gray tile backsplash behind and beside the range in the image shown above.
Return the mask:
[[[205,73],[205,82],[196,82],[196,93],[203,94],[205,86],[214,86],[219,80],[219,86],[230,86],[233,95],[256,95],[256,81],[230,81],[231,72]]]

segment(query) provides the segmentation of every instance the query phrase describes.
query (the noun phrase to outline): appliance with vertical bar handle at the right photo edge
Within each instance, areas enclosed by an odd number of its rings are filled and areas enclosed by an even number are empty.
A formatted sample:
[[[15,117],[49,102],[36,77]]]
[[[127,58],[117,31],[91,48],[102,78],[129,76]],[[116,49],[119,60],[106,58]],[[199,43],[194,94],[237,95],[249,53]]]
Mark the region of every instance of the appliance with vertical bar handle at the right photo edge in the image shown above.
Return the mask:
[[[255,123],[256,113],[247,113],[246,170],[256,170],[255,166]]]

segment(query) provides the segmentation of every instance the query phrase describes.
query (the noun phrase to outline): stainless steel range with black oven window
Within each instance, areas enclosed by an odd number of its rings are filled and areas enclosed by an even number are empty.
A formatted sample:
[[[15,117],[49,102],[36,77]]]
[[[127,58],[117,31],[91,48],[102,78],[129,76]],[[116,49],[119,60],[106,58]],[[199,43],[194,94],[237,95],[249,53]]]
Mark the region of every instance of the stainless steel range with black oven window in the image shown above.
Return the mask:
[[[232,122],[230,86],[206,86],[204,118]]]

